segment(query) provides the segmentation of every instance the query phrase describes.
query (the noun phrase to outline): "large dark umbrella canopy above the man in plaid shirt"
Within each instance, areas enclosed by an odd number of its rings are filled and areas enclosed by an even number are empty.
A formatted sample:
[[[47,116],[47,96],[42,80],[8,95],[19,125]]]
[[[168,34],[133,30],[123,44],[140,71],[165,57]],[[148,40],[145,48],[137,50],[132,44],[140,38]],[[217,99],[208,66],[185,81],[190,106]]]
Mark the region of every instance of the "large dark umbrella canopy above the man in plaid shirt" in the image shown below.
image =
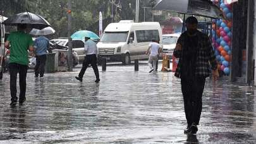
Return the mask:
[[[160,0],[154,9],[224,19],[221,9],[209,0]]]

